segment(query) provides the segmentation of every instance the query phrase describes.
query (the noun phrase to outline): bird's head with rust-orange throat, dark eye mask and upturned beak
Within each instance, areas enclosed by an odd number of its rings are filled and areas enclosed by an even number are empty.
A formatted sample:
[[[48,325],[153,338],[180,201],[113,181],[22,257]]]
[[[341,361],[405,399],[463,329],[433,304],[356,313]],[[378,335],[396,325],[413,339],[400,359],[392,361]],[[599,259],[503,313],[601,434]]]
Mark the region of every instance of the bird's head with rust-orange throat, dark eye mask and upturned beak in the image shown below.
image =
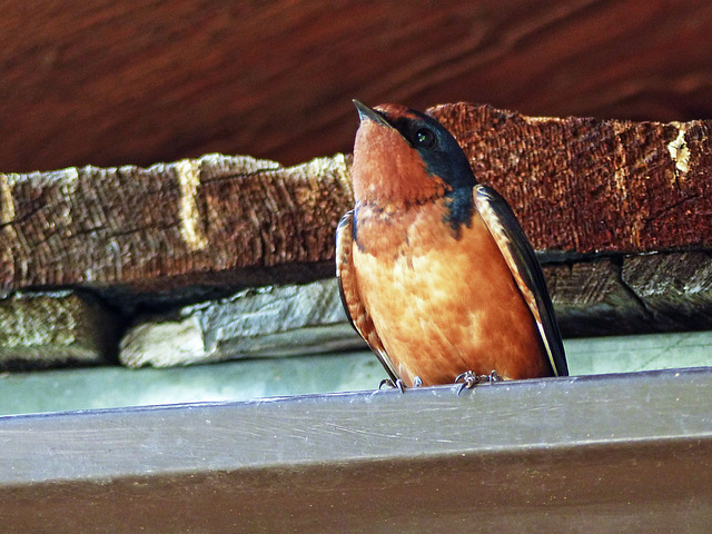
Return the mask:
[[[411,205],[477,184],[462,148],[434,118],[393,103],[354,103],[360,117],[352,167],[357,201]]]

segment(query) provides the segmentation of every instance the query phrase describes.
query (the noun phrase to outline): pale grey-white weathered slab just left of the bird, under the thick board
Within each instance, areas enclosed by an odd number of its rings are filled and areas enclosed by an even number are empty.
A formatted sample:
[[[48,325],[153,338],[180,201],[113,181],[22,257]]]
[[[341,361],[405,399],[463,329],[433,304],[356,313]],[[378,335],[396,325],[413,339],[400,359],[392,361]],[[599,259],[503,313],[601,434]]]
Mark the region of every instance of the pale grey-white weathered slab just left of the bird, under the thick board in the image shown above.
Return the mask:
[[[129,367],[200,364],[364,348],[346,319],[336,279],[246,289],[229,298],[139,317],[123,336]]]

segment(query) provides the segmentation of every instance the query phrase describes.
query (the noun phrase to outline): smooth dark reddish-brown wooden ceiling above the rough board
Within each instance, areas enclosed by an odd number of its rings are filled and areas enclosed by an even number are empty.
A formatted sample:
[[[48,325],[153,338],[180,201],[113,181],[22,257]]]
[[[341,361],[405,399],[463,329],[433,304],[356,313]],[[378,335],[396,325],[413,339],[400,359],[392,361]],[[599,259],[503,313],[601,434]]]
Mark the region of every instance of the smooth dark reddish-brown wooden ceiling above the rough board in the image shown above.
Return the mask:
[[[350,151],[350,99],[712,117],[712,3],[2,2],[0,171]]]

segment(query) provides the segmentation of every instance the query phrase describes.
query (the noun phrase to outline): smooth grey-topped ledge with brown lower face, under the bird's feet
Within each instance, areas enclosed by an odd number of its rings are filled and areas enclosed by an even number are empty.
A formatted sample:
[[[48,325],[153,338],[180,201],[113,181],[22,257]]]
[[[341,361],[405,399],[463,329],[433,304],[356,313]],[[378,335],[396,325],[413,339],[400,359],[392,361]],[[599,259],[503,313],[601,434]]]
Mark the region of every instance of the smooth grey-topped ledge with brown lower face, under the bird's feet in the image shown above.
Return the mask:
[[[0,516],[8,532],[706,533],[711,388],[691,369],[2,417]]]

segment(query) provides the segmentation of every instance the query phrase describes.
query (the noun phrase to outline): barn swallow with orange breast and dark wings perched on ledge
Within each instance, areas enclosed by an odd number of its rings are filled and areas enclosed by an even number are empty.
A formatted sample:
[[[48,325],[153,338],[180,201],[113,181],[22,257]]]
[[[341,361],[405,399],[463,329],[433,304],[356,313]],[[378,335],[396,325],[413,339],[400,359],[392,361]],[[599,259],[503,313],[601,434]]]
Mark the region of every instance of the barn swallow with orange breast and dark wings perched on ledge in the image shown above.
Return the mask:
[[[355,207],[338,225],[336,274],[390,380],[566,376],[542,269],[504,198],[434,118],[354,103]]]

